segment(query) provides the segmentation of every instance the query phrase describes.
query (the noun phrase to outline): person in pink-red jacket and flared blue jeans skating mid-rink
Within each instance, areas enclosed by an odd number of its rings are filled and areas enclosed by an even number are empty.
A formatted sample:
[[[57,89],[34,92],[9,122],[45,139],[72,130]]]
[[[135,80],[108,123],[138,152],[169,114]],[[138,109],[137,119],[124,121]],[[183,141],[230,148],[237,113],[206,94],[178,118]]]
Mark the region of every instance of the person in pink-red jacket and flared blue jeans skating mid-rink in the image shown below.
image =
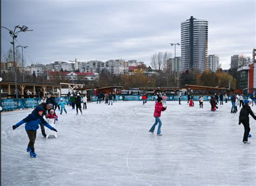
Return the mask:
[[[163,106],[163,98],[159,97],[157,99],[157,103],[154,106],[154,118],[156,119],[156,121],[154,122],[153,126],[150,128],[150,133],[154,133],[154,128],[156,127],[156,125],[158,124],[158,130],[157,130],[157,135],[162,135],[161,133],[161,120],[160,120],[160,116],[161,116],[161,111],[165,111],[167,109],[167,106]]]

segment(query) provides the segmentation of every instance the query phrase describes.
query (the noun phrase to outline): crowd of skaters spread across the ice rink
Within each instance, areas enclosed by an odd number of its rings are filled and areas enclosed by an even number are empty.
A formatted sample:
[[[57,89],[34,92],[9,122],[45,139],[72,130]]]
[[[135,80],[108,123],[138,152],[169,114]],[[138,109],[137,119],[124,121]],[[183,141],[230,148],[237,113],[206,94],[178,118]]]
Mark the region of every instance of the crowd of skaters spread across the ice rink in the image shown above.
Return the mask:
[[[97,98],[97,104],[99,102],[105,101],[105,104],[112,105],[113,102],[117,102],[117,96],[114,94],[114,92],[110,94],[102,94],[99,92],[99,94],[96,96]],[[187,95],[187,103],[189,106],[194,106],[194,100],[193,96],[190,96],[189,94]],[[143,94],[142,95],[142,101],[143,105],[147,103],[147,95]],[[222,95],[222,94],[215,94],[214,96],[211,96],[210,99],[210,104],[211,104],[211,111],[216,111],[218,109],[218,104],[223,105],[223,101],[225,99],[225,102],[227,103],[228,96],[227,95]],[[161,133],[161,112],[165,111],[167,109],[166,106],[166,101],[167,101],[167,96],[166,94],[162,94],[161,92],[158,92],[156,95],[152,96],[152,101],[155,100],[156,104],[154,106],[154,118],[155,122],[150,128],[150,133],[154,133],[155,127],[158,125],[158,130],[157,130],[157,135],[162,135]],[[179,104],[181,101],[181,94],[179,94]],[[46,97],[42,97],[41,101],[39,102],[39,105],[31,112],[31,114],[24,118],[23,120],[19,121],[16,125],[13,125],[12,128],[15,130],[17,127],[21,126],[22,124],[25,123],[25,130],[26,133],[28,134],[29,137],[29,144],[27,147],[27,152],[30,153],[30,156],[35,158],[37,155],[35,153],[35,140],[36,140],[36,131],[41,127],[41,132],[44,138],[46,138],[47,134],[45,133],[45,126],[48,127],[50,130],[57,132],[55,128],[55,123],[58,121],[58,116],[56,114],[56,110],[60,111],[60,115],[62,115],[63,110],[65,113],[68,113],[65,109],[65,106],[71,106],[72,110],[75,110],[76,108],[76,114],[78,115],[78,111],[80,111],[81,115],[83,114],[82,112],[82,104],[83,104],[83,110],[87,109],[87,96],[84,94],[80,96],[79,93],[72,93],[68,94],[68,97],[62,98],[58,97],[56,95],[50,95],[48,94]],[[199,97],[199,107],[203,109],[203,103],[204,103],[204,96]],[[238,106],[242,107],[240,110],[240,115],[239,115],[239,125],[243,124],[244,125],[244,137],[243,137],[243,142],[245,144],[250,144],[250,141],[248,141],[248,135],[250,135],[250,123],[249,123],[249,115],[251,115],[255,120],[256,116],[252,112],[250,105],[252,104],[253,106],[253,101],[251,98],[246,99],[244,95],[238,95],[234,94],[231,97],[231,113],[236,113],[238,112]],[[164,106],[165,105],[165,106]],[[43,118],[45,116],[46,120]],[[49,123],[51,121],[51,124],[54,125],[51,126]]]

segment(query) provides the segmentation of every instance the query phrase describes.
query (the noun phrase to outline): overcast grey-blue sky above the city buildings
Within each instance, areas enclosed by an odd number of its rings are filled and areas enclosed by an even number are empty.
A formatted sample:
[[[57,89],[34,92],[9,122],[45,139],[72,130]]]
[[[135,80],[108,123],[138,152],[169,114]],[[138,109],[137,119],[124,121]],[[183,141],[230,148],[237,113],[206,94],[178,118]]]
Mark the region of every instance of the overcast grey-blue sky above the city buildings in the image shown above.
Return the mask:
[[[208,54],[224,69],[234,54],[251,56],[255,47],[255,2],[244,1],[82,1],[2,0],[2,26],[26,25],[18,35],[27,45],[27,65],[54,61],[125,59],[150,65],[151,55],[180,42],[180,23],[208,20]],[[11,37],[2,28],[2,55]],[[180,46],[176,55],[180,56]],[[29,58],[30,57],[30,58]]]

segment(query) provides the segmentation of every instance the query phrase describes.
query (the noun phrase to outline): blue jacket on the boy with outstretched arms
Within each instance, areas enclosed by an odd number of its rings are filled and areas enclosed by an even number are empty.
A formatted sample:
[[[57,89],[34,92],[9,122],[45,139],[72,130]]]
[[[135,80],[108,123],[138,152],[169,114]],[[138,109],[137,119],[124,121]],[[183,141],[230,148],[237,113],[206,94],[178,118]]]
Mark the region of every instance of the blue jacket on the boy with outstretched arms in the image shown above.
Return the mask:
[[[54,128],[49,125],[42,116],[38,115],[38,111],[43,110],[42,107],[37,106],[34,113],[31,113],[29,116],[19,121],[15,126],[19,127],[22,124],[26,123],[25,130],[26,131],[36,131],[39,128],[39,124],[44,124],[44,126],[50,128],[50,130],[54,130]]]

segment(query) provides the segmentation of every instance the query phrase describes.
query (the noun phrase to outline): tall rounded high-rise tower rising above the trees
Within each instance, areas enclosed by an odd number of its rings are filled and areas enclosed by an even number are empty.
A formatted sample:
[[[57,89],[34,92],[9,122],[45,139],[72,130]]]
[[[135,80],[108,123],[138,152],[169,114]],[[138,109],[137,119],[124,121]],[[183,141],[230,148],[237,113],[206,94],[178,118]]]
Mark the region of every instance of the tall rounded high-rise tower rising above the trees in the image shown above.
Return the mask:
[[[181,71],[208,68],[208,21],[193,16],[181,22]]]

